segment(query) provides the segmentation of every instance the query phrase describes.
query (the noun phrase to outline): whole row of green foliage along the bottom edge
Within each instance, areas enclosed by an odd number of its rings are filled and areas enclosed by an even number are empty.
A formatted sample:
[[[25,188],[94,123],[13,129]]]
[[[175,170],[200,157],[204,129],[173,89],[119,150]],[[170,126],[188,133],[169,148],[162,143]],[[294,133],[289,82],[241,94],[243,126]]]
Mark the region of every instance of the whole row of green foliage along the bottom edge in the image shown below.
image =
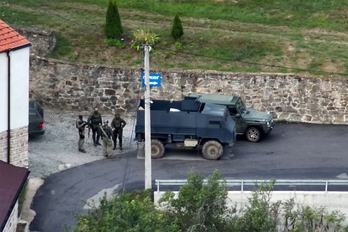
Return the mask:
[[[87,215],[76,215],[72,232],[317,232],[348,231],[345,216],[320,207],[302,206],[294,199],[271,201],[275,181],[255,185],[245,205],[229,204],[226,181],[218,171],[205,179],[193,172],[177,196],[168,191],[159,207],[151,190],[101,199]]]

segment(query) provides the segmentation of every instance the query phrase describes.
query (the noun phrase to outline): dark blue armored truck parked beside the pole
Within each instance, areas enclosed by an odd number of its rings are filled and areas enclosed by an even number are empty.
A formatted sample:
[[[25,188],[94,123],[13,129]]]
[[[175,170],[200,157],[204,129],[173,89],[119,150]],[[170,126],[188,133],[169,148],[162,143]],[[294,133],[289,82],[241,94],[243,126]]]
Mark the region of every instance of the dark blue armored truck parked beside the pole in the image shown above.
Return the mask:
[[[139,102],[136,140],[145,140],[145,101]],[[219,159],[225,146],[236,141],[236,125],[226,106],[200,103],[194,100],[152,100],[151,157],[161,158],[164,146],[174,143],[179,148],[198,148],[202,145],[205,159]]]

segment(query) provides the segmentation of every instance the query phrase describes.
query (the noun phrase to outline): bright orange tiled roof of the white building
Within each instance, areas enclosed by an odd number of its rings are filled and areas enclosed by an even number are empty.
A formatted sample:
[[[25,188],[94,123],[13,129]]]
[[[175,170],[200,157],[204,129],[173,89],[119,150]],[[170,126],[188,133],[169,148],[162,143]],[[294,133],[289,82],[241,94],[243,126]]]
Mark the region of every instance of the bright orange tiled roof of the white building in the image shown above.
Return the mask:
[[[30,42],[0,19],[0,52],[27,45]]]

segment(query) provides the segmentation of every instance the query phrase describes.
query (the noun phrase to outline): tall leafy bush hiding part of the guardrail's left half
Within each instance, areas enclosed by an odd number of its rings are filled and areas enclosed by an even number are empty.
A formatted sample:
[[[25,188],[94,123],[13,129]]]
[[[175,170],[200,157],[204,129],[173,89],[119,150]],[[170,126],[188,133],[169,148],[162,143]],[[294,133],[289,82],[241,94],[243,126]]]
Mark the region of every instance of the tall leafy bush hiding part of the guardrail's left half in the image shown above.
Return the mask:
[[[227,188],[220,179],[220,173],[214,171],[205,183],[203,176],[191,172],[177,198],[168,191],[160,199],[179,231],[228,231]]]

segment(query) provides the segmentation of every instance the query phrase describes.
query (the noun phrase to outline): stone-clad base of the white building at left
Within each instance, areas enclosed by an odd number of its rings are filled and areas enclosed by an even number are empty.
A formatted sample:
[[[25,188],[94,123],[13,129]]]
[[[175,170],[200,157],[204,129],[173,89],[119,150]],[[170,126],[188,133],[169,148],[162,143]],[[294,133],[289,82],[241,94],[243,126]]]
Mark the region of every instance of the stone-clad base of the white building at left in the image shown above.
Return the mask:
[[[10,163],[18,167],[28,168],[28,127],[11,130]],[[0,133],[0,159],[7,162],[7,131]]]

